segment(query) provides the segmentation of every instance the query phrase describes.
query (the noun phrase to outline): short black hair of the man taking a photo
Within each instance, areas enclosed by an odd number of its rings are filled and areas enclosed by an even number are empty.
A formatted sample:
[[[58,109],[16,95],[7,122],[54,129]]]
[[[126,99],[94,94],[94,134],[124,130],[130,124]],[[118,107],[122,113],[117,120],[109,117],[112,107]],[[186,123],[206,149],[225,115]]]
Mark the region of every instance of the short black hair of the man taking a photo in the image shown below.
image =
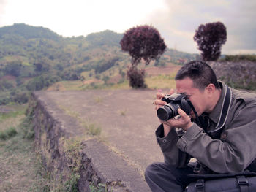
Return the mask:
[[[194,87],[200,90],[205,89],[210,83],[219,89],[219,83],[217,81],[216,74],[211,66],[203,61],[190,61],[178,70],[175,80],[184,80],[189,77]]]

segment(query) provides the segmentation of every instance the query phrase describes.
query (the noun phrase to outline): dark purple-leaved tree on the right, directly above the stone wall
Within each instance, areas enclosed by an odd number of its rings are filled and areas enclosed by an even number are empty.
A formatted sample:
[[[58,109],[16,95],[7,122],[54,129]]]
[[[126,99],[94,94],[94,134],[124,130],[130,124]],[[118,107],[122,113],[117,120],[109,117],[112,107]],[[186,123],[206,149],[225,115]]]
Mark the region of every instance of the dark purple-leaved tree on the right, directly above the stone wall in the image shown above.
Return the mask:
[[[226,40],[227,30],[221,22],[202,24],[195,31],[194,41],[197,42],[203,61],[216,61]]]

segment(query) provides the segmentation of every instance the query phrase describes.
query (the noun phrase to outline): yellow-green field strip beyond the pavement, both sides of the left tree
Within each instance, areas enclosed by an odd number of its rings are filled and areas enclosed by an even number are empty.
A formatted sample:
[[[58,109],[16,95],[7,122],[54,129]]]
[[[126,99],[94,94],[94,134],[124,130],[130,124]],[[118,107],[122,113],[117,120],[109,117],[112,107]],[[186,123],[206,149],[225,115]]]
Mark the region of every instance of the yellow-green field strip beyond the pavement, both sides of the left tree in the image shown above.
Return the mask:
[[[150,89],[168,89],[175,88],[174,77],[181,66],[167,64],[164,67],[146,67],[145,82]],[[83,74],[86,76],[86,74]],[[88,89],[129,89],[129,82],[126,78],[121,77],[118,72],[112,72],[111,76],[106,73],[102,76],[108,76],[106,81],[93,78],[91,80],[61,81],[56,82],[47,88],[47,91],[75,91]]]

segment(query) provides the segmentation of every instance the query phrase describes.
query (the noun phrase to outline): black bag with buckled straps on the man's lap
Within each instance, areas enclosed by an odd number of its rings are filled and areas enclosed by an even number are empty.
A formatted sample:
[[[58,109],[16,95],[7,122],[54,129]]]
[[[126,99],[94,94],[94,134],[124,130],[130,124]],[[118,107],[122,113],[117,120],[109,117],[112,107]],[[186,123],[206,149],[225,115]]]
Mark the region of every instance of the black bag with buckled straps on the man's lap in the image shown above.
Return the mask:
[[[187,192],[256,192],[256,173],[190,174],[195,178]]]

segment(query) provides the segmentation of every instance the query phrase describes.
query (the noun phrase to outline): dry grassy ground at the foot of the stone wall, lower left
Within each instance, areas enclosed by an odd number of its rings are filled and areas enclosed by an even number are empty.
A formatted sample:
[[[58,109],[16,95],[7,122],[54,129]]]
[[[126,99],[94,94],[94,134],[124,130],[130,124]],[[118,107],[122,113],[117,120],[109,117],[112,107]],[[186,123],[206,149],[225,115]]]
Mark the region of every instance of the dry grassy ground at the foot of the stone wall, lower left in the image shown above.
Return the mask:
[[[24,138],[26,105],[8,108],[12,111],[0,113],[0,191],[48,191],[34,141]]]

